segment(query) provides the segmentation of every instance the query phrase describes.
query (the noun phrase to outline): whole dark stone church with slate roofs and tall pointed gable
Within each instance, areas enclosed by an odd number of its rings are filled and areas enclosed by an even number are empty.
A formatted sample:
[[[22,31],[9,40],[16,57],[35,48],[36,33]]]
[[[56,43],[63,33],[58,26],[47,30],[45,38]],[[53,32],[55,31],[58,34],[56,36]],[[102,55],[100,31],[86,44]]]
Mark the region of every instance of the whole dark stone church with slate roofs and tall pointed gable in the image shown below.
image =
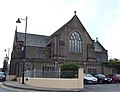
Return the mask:
[[[21,76],[26,70],[58,71],[60,64],[76,63],[85,73],[104,73],[101,62],[108,61],[107,50],[93,40],[76,13],[70,21],[50,36],[15,32],[10,74]],[[24,52],[26,54],[24,54]],[[24,56],[25,55],[25,56]]]

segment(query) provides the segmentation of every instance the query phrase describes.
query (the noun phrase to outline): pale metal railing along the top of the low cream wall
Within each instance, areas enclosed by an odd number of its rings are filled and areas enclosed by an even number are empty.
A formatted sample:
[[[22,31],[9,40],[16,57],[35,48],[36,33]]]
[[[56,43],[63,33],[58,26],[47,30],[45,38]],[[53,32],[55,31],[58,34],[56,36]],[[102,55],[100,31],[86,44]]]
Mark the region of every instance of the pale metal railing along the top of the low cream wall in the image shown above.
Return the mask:
[[[32,78],[78,78],[78,71],[41,71],[27,70],[25,77]]]

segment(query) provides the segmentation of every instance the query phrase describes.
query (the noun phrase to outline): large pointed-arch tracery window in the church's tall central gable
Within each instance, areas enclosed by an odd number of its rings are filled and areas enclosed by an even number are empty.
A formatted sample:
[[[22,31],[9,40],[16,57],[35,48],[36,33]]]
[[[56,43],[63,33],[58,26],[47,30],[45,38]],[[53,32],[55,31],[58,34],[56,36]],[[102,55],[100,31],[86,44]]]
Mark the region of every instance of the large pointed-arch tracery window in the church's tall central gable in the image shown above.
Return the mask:
[[[77,31],[74,31],[70,36],[70,52],[82,53],[82,39]]]

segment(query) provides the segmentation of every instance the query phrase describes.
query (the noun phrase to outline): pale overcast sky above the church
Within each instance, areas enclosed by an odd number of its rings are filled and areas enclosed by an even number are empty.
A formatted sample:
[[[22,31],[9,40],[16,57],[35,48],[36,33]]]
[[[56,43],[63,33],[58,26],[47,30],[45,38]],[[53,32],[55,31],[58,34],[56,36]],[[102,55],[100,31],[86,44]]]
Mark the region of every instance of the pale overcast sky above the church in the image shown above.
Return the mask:
[[[108,50],[108,57],[120,59],[120,0],[0,0],[0,67],[9,48],[11,54],[16,26],[25,30],[25,21],[16,24],[18,17],[28,16],[28,33],[49,36],[74,11],[92,39],[98,37]]]

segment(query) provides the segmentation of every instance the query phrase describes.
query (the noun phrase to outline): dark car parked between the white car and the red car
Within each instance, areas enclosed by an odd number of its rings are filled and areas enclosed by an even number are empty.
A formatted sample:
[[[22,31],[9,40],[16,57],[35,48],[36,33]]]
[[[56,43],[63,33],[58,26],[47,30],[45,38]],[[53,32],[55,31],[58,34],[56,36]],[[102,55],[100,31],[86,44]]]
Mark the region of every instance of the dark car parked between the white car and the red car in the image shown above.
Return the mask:
[[[106,77],[103,74],[93,74],[98,79],[98,83],[112,83],[112,78]]]

